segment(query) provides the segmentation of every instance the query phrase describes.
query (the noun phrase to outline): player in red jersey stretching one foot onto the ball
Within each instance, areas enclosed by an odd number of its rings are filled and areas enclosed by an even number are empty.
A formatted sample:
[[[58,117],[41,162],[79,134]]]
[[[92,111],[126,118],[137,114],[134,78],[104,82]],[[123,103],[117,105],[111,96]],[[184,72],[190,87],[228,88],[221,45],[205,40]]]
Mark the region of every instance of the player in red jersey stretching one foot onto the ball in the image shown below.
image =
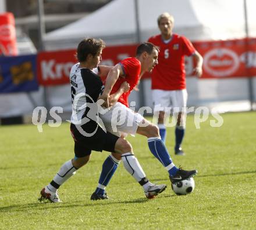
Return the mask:
[[[158,52],[159,49],[157,46],[154,46],[150,42],[144,42],[138,46],[136,57],[129,57],[120,61],[120,63],[116,64],[115,67],[109,71],[105,82],[105,89],[101,96],[105,101],[105,107],[109,107],[109,96],[116,92],[123,82],[126,81],[129,83],[130,89],[119,97],[118,102],[115,103],[108,112],[104,114],[99,113],[99,117],[102,119],[106,130],[116,136],[122,137],[127,134],[134,135],[138,133],[147,137],[148,147],[151,153],[162,163],[166,171],[168,171],[170,181],[177,183],[194,176],[197,170],[186,171],[177,168],[161,140],[158,127],[128,108],[128,97],[131,90],[137,85],[140,76],[143,75],[145,71],[151,72],[155,65],[158,64]],[[126,167],[126,170],[130,170],[130,173],[133,174],[135,165],[129,157],[135,158],[135,156],[130,153],[123,154],[120,157],[120,155],[115,152],[112,152],[112,154],[106,158],[102,165],[98,186],[91,196],[91,199],[101,199],[101,197],[104,196],[106,185],[108,185],[113,173],[115,173],[121,158],[123,162],[127,161],[126,166],[129,165],[129,167]]]

